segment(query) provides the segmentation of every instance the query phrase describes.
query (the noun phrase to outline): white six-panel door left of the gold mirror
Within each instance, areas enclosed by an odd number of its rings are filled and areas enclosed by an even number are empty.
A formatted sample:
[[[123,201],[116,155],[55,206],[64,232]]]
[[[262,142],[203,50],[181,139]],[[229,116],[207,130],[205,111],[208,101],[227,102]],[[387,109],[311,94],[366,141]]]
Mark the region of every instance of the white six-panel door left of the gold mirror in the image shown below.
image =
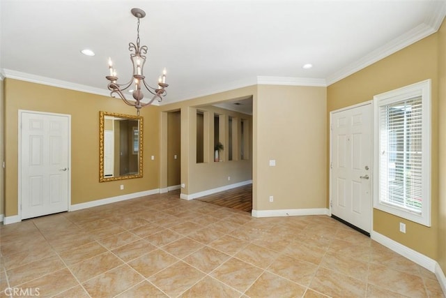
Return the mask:
[[[20,111],[19,121],[21,218],[68,211],[70,115]]]

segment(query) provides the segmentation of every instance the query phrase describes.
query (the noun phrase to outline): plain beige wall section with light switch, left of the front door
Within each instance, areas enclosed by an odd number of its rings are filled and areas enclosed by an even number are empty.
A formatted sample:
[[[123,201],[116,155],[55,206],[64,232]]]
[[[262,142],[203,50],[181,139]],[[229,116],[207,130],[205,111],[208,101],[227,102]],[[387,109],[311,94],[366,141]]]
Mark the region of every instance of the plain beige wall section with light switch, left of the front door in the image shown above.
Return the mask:
[[[326,208],[326,88],[259,85],[256,210]],[[276,161],[275,167],[269,161]],[[274,202],[269,202],[270,195]]]

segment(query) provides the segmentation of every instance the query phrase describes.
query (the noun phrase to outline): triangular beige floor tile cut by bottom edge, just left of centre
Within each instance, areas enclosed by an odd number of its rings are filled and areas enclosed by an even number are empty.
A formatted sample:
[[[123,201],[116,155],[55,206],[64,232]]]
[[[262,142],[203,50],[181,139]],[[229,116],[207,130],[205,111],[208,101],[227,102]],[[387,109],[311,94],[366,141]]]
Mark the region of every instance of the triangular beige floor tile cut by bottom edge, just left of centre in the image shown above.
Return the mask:
[[[184,298],[197,298],[197,297],[214,297],[214,298],[231,298],[240,297],[241,292],[230,288],[215,278],[206,276],[192,288],[184,292],[180,297]]]

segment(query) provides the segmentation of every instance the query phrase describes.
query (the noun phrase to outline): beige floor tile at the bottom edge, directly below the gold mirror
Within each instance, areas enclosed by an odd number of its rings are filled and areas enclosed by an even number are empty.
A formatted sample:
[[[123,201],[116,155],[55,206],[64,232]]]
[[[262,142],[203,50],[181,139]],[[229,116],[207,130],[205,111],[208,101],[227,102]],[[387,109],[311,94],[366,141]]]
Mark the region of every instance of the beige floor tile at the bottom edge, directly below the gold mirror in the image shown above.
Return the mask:
[[[84,283],[91,297],[114,297],[144,278],[128,265],[116,267]]]

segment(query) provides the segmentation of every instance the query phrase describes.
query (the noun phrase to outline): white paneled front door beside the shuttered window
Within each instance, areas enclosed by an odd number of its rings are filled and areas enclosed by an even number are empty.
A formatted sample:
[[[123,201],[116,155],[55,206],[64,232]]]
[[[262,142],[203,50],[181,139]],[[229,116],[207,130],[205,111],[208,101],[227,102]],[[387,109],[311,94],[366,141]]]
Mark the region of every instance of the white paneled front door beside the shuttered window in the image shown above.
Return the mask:
[[[332,112],[332,215],[371,231],[371,104]]]

